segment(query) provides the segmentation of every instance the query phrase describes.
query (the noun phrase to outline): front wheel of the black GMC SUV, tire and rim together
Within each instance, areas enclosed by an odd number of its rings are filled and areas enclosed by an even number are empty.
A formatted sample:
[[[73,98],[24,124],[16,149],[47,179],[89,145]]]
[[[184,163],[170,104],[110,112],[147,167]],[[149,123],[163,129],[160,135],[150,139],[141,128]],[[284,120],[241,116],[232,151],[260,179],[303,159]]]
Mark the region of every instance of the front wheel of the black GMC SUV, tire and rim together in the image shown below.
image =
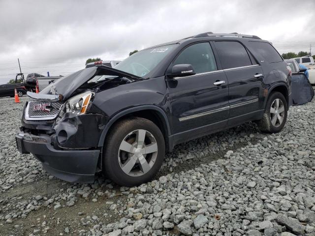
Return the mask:
[[[158,126],[145,118],[128,118],[110,130],[102,169],[119,185],[140,185],[156,176],[164,155],[164,137]]]

